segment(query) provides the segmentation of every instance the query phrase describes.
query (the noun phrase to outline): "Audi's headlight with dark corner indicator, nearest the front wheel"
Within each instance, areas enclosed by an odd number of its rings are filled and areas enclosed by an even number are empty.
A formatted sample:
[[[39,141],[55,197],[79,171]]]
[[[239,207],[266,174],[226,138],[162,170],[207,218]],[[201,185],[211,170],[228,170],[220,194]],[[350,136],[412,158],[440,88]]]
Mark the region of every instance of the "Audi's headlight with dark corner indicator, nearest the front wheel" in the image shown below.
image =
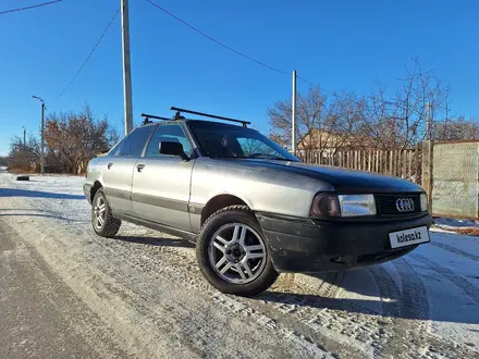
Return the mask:
[[[336,195],[321,193],[315,197],[311,218],[327,219],[332,216],[374,215],[376,201],[373,195]]]

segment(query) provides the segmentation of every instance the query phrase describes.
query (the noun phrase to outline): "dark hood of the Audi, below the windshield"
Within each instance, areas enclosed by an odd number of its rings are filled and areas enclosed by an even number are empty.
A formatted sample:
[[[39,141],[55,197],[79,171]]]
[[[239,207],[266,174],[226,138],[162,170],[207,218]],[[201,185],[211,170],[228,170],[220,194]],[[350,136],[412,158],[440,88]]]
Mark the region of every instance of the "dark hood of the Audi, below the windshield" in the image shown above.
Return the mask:
[[[232,162],[248,164],[255,168],[282,170],[290,173],[306,175],[332,185],[337,193],[418,193],[422,191],[418,185],[398,177],[385,176],[371,172],[346,170],[326,165],[307,164],[275,160],[231,160]]]

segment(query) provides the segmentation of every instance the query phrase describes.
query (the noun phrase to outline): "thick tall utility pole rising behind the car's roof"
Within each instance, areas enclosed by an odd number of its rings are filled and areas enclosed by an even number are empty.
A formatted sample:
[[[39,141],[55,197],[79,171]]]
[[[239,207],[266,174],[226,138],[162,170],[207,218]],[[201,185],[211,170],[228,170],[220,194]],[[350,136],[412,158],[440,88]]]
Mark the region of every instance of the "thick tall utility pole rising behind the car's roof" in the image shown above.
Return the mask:
[[[133,129],[132,65],[130,62],[130,21],[128,0],[121,0],[122,7],[122,49],[123,49],[123,96],[125,136]]]

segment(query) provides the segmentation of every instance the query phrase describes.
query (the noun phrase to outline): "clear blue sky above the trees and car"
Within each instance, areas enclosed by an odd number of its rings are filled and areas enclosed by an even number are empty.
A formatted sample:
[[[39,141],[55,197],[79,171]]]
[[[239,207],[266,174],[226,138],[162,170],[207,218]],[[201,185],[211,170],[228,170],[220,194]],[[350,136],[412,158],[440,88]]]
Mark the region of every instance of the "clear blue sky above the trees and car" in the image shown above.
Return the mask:
[[[2,0],[0,11],[45,0]],[[328,90],[369,92],[374,81],[404,75],[419,55],[451,84],[453,110],[479,113],[479,1],[195,1],[155,0],[217,39]],[[121,21],[116,17],[75,83],[57,102],[103,32],[120,0],[65,0],[0,15],[0,154],[9,139],[39,131],[39,102],[50,111],[87,101],[123,121]],[[291,76],[210,42],[145,0],[131,0],[135,123],[170,106],[251,120],[267,131],[266,110],[290,98]],[[299,83],[299,90],[308,85]]]

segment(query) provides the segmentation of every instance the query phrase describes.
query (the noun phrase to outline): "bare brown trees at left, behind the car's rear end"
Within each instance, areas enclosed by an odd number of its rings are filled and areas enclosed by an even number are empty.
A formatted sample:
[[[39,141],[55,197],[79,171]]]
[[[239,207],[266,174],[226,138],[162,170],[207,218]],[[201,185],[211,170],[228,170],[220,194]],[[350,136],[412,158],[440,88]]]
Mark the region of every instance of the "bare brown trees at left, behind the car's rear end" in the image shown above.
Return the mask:
[[[46,172],[83,173],[98,153],[108,151],[119,135],[108,117],[97,117],[89,106],[77,113],[50,113],[45,121]],[[9,165],[24,171],[40,171],[40,141],[30,136],[11,138]]]

